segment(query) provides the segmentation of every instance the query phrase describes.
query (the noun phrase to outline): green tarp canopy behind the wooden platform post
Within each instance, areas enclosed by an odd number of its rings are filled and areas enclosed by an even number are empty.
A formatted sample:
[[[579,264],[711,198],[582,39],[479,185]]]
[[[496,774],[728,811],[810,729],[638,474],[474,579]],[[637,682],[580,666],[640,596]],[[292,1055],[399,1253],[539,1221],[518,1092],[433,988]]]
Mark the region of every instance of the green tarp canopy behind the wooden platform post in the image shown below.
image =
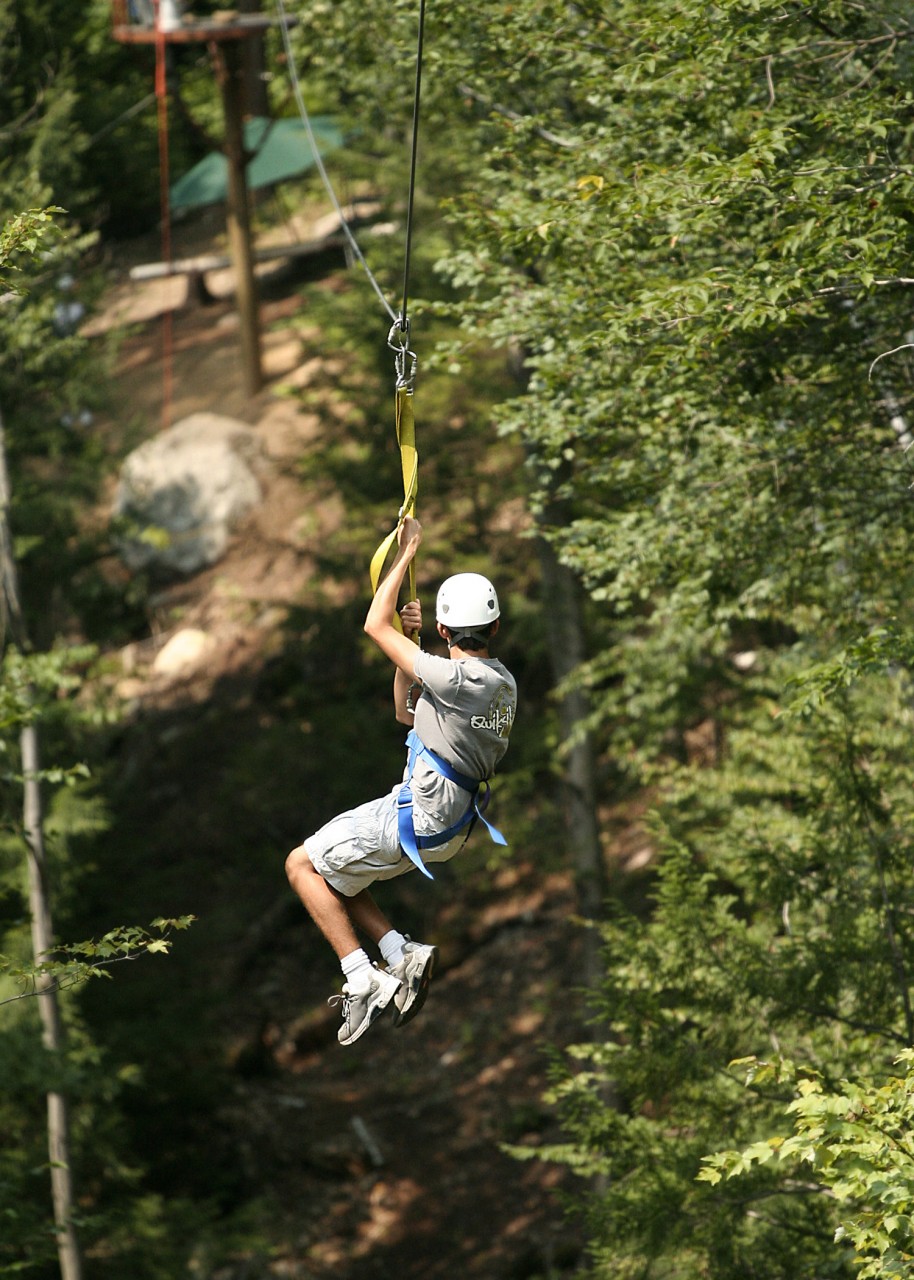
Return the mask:
[[[321,156],[343,145],[343,132],[329,115],[311,120]],[[261,115],[245,122],[245,150],[253,159],[247,164],[248,188],[271,187],[284,178],[294,178],[315,165],[307,129],[301,120],[268,120]],[[177,212],[216,205],[228,195],[228,161],[221,151],[210,151],[183,177],[172,183],[169,204]]]

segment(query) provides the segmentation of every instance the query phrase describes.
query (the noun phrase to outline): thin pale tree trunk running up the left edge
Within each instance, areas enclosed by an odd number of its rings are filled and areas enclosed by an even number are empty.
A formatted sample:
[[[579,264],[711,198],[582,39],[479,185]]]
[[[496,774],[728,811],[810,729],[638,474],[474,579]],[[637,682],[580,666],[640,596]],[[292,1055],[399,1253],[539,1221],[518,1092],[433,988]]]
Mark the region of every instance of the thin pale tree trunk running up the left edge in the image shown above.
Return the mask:
[[[13,558],[13,540],[9,526],[9,474],[6,468],[6,442],[0,412],[0,580],[3,585],[3,621],[10,639],[22,649],[28,648],[26,623],[19,603],[19,585]],[[41,804],[40,754],[37,724],[22,730],[22,773],[24,778],[23,828],[28,847],[28,899],[32,914],[32,952],[35,963],[54,946],[47,860],[45,856],[44,810]],[[38,978],[38,1011],[45,1048],[60,1062],[64,1055],[64,1032],[60,1005],[49,978]],[[54,1225],[58,1240],[58,1258],[61,1280],[81,1280],[82,1261],[73,1226],[73,1175],[69,1155],[69,1110],[67,1097],[59,1089],[47,1092],[47,1152],[51,1166],[51,1197]]]

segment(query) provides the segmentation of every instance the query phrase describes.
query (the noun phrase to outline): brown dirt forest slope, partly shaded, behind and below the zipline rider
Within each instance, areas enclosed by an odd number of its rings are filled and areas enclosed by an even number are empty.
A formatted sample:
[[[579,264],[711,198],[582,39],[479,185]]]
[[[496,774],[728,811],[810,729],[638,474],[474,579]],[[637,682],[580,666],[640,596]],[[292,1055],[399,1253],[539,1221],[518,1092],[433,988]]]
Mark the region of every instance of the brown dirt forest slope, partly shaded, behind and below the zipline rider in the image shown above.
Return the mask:
[[[434,886],[383,886],[396,923],[440,945],[439,973],[407,1028],[380,1023],[337,1044],[335,961],[283,860],[317,822],[380,790],[379,759],[393,781],[401,751],[388,677],[358,636],[344,497],[302,466],[344,443],[342,360],[315,353],[294,287],[266,283],[266,384],[247,397],[230,282],[209,283],[207,306],[183,280],[122,284],[93,321],[97,334],[125,326],[102,424],[115,452],[159,429],[166,308],[172,420],[227,413],[264,449],[264,502],[228,556],[156,588],[147,636],[111,655],[129,717],[108,749],[114,826],[86,911],[110,919],[114,878],[118,918],[198,918],[172,957],[87,997],[110,1052],[141,1065],[133,1140],[166,1199],[209,1199],[219,1261],[200,1245],[197,1268],[218,1280],[577,1274],[582,1235],[562,1207],[573,1180],[503,1149],[561,1138],[541,1097],[550,1055],[586,1036],[584,934],[561,856],[544,865],[521,841],[489,865],[476,837]],[[206,632],[205,662],[163,672],[156,658],[182,627]],[[353,686],[362,719],[341,728],[334,699]],[[625,819],[620,840],[636,863]]]

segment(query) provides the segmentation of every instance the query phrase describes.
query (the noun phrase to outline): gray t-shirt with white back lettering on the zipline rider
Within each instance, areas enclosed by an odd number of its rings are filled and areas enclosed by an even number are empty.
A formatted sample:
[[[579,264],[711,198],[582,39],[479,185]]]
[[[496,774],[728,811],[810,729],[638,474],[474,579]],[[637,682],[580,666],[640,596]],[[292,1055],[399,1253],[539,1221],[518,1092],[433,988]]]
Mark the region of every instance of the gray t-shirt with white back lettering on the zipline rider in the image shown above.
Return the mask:
[[[517,707],[515,677],[497,658],[439,658],[420,650],[415,662],[422,694],[415,730],[422,742],[461,773],[483,781],[508,749]],[[466,810],[462,787],[422,759],[412,774],[413,823],[419,835],[444,831]]]

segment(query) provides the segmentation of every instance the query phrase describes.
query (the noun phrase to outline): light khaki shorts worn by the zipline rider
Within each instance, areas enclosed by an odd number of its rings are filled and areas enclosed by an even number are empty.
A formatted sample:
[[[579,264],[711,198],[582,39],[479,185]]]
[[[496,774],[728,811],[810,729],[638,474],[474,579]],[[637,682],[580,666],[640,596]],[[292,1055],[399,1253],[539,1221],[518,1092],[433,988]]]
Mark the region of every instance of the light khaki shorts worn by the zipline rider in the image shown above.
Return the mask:
[[[378,800],[330,818],[305,841],[311,865],[328,884],[355,897],[376,881],[393,879],[416,868],[399,847],[397,796],[399,783]],[[424,849],[424,863],[445,863],[463,847],[466,829],[437,849]]]

